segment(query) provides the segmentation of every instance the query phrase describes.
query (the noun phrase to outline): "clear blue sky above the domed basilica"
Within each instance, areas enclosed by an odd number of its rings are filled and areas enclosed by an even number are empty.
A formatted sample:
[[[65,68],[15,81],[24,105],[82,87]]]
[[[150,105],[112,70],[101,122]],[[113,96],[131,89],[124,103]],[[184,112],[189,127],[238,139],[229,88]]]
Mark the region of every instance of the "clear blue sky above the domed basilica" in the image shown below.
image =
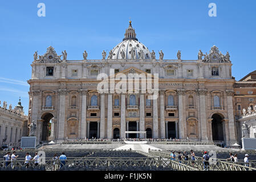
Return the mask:
[[[46,5],[39,17],[38,3]],[[209,3],[216,3],[217,17],[210,17]],[[17,105],[21,96],[27,114],[33,54],[53,46],[67,59],[101,59],[124,37],[129,18],[137,38],[150,50],[161,50],[165,59],[196,60],[199,49],[216,45],[229,51],[236,80],[256,69],[256,1],[1,1],[0,100]],[[158,57],[158,55],[157,55]],[[1,104],[2,105],[2,104]]]

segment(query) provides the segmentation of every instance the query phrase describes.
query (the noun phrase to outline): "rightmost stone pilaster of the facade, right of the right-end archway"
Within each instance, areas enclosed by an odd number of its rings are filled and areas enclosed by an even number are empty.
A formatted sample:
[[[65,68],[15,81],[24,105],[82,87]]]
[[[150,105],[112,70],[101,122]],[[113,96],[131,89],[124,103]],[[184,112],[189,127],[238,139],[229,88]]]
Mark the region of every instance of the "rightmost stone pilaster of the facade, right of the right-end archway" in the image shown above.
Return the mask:
[[[226,90],[226,94],[227,94],[227,115],[229,117],[229,140],[230,140],[230,144],[234,144],[237,141],[235,139],[233,91]]]

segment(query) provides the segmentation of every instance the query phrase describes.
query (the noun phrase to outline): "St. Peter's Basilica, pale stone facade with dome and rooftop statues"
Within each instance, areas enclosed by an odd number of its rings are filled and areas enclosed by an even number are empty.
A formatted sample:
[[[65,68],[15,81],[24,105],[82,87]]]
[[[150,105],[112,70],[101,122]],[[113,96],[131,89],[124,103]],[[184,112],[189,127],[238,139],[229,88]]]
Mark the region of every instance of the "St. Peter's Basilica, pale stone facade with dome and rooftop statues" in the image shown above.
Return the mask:
[[[29,123],[37,125],[37,139],[63,141],[84,138],[124,138],[125,131],[147,131],[147,138],[179,138],[236,142],[233,84],[229,53],[216,46],[198,52],[197,60],[167,60],[136,38],[131,22],[123,42],[101,60],[67,60],[52,47],[31,64]],[[63,57],[62,57],[63,56]],[[159,59],[157,59],[159,57]],[[127,89],[100,93],[97,76],[117,73],[159,74],[159,97]],[[153,78],[154,79],[154,78]],[[127,87],[128,88],[128,87]],[[49,130],[49,122],[51,127]],[[131,138],[145,137],[129,134]]]

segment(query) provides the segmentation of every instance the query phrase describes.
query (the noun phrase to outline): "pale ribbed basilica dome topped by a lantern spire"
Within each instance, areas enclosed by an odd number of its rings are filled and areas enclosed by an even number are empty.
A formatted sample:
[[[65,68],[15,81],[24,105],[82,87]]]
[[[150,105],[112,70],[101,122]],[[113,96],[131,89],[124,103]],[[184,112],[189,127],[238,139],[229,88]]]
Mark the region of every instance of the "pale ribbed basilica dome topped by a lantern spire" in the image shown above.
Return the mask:
[[[123,42],[117,44],[108,59],[151,59],[151,52],[136,38],[135,30],[132,28],[131,21],[125,31]]]

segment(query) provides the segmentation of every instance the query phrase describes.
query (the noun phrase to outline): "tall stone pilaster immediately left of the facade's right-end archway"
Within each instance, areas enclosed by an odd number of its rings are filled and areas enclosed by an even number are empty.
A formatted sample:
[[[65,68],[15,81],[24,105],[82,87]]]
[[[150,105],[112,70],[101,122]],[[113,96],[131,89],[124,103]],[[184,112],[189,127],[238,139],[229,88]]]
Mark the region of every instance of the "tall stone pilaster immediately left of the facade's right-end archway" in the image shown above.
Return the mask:
[[[201,140],[207,140],[207,123],[206,123],[206,104],[205,94],[207,90],[199,89],[199,102],[200,102],[200,122],[201,122]]]

